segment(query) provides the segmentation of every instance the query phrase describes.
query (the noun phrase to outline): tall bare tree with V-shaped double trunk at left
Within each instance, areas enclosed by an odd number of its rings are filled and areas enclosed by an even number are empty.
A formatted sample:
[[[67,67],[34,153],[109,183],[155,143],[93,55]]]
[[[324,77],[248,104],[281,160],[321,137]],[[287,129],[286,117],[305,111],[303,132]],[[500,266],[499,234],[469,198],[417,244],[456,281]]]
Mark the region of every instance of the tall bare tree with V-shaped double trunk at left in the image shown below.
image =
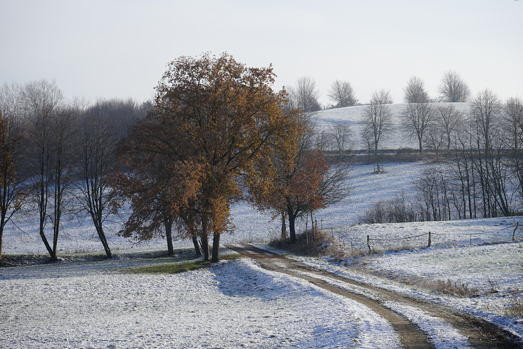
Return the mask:
[[[24,87],[30,125],[31,161],[29,165],[32,199],[39,212],[40,237],[51,260],[58,259],[57,244],[72,175],[73,134],[76,114],[64,103],[62,91],[47,80],[28,83]],[[49,214],[48,209],[52,210]],[[48,220],[53,230],[52,247],[45,234]]]

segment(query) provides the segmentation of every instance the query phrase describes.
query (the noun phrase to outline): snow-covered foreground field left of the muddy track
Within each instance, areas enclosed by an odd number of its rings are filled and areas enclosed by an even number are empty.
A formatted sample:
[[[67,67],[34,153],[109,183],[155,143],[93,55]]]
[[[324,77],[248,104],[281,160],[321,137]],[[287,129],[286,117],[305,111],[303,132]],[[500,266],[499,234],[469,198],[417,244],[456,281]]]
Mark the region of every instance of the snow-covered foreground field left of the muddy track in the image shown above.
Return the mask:
[[[0,347],[400,347],[390,324],[359,303],[247,259],[121,273],[130,264],[3,269]]]

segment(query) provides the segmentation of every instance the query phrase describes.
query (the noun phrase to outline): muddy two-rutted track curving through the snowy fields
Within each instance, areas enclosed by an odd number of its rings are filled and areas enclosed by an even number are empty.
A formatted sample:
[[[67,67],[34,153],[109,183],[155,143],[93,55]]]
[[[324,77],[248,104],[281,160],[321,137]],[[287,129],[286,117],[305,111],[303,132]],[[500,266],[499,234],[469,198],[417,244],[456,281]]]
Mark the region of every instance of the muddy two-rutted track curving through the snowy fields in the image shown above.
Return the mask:
[[[434,345],[430,342],[427,334],[416,324],[409,321],[401,313],[386,307],[384,302],[394,302],[414,307],[429,316],[447,322],[462,335],[466,336],[472,347],[523,348],[521,342],[509,332],[490,322],[462,313],[456,309],[368,285],[320,268],[310,267],[304,263],[258,249],[252,245],[226,245],[226,247],[256,260],[265,269],[308,280],[316,286],[348,297],[371,308],[391,323],[392,327],[399,333],[405,348],[434,348]]]

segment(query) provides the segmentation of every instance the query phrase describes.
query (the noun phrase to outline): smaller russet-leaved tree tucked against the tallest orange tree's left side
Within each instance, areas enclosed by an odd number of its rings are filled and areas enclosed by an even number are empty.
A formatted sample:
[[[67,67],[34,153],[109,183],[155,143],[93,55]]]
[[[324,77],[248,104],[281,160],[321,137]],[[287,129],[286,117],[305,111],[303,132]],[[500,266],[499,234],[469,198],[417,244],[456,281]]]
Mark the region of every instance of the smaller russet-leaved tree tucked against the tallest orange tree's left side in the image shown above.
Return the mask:
[[[141,130],[133,128],[137,136]],[[134,132],[134,133],[133,133]],[[119,234],[138,241],[165,235],[168,255],[174,255],[173,224],[183,214],[199,189],[200,168],[191,161],[165,162],[161,157],[142,156],[137,144],[120,144],[119,160],[128,171],[112,177],[115,211],[121,198],[130,201],[131,215]]]

